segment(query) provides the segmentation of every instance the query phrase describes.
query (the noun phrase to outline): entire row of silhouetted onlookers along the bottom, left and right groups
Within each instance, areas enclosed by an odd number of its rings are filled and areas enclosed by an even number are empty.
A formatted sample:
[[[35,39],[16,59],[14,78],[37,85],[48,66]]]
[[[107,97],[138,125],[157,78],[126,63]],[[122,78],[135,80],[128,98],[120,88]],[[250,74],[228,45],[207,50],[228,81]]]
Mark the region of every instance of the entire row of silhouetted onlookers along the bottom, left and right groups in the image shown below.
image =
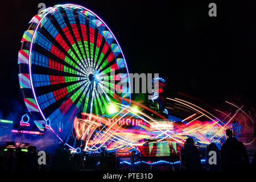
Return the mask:
[[[242,142],[233,137],[232,130],[226,130],[225,143],[221,150],[216,144],[211,143],[207,146],[205,156],[201,155],[199,148],[195,145],[192,138],[187,138],[184,148],[180,150],[180,167],[172,168],[181,171],[221,171],[221,170],[247,170],[255,168],[255,155],[253,162],[249,163],[249,157]],[[22,148],[0,148],[0,171],[49,171],[49,170],[117,170],[120,168],[120,159],[113,153],[107,154],[105,151],[101,154],[72,154],[68,148],[60,147],[54,154],[46,153],[46,164],[38,162],[39,156],[35,146],[29,146],[27,152]],[[130,168],[134,170],[134,152],[130,156]],[[202,166],[201,160],[205,159],[205,165]],[[150,168],[150,170],[152,167]]]

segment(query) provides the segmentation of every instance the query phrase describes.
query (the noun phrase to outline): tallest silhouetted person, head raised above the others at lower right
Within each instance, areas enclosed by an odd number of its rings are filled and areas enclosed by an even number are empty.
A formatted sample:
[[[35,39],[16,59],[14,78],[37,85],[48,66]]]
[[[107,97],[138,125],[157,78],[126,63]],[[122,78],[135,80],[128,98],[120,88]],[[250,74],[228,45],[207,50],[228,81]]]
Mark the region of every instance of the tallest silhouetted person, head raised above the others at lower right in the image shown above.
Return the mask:
[[[246,169],[249,166],[249,157],[245,146],[233,137],[232,130],[226,130],[228,139],[222,144],[221,159],[224,170]]]

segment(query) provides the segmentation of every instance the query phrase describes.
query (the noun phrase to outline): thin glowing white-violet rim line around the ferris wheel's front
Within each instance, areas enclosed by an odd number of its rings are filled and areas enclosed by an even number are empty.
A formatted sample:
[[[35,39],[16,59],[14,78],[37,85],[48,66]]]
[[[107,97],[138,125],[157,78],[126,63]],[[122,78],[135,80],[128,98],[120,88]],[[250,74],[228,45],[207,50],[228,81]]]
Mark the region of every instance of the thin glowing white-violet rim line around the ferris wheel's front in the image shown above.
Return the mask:
[[[62,6],[75,6],[75,7],[79,7],[80,9],[84,9],[86,11],[89,11],[90,13],[92,13],[94,16],[96,16],[99,20],[101,20],[102,23],[104,23],[104,26],[106,28],[108,28],[108,31],[110,31],[110,33],[112,34],[113,38],[115,39],[115,42],[117,42],[118,44],[118,47],[121,51],[121,54],[122,54],[122,57],[123,57],[123,60],[124,60],[124,63],[125,63],[125,67],[126,67],[126,71],[128,73],[128,82],[129,82],[129,93],[130,93],[130,77],[129,77],[129,71],[128,71],[128,68],[127,68],[127,64],[126,64],[126,60],[125,60],[125,56],[123,55],[123,52],[122,52],[122,49],[121,47],[119,46],[119,43],[117,41],[117,39],[115,38],[113,32],[110,30],[110,28],[108,27],[108,25],[98,16],[96,15],[93,11],[89,10],[89,9],[86,9],[85,7],[83,6],[80,6],[80,5],[74,5],[74,4],[71,4],[71,3],[68,3],[68,4],[64,4],[64,5],[55,5],[53,6],[47,13],[44,13],[44,15],[42,16],[42,18],[39,20],[39,22],[37,23],[36,25],[36,28],[35,28],[35,31],[33,32],[32,34],[32,39],[31,39],[31,43],[30,43],[30,50],[29,50],[29,55],[28,55],[28,64],[29,64],[29,75],[30,75],[30,84],[31,84],[31,88],[32,88],[32,93],[33,93],[33,96],[34,96],[34,99],[35,99],[35,102],[36,102],[36,106],[38,107],[39,111],[40,111],[40,114],[42,115],[44,121],[47,121],[47,118],[44,116],[43,114],[43,111],[41,110],[40,108],[40,105],[38,103],[38,99],[36,97],[36,93],[35,93],[35,89],[34,89],[34,85],[33,85],[33,81],[32,81],[32,72],[31,72],[31,51],[32,51],[32,43],[35,39],[35,35],[36,35],[36,32],[38,31],[38,27],[40,25],[40,23],[42,22],[42,20],[49,14],[49,13],[52,13],[51,11],[52,10],[55,10],[57,7],[62,7]],[[130,94],[129,94],[129,97]],[[129,98],[130,99],[130,98]],[[130,104],[130,103],[129,103]]]

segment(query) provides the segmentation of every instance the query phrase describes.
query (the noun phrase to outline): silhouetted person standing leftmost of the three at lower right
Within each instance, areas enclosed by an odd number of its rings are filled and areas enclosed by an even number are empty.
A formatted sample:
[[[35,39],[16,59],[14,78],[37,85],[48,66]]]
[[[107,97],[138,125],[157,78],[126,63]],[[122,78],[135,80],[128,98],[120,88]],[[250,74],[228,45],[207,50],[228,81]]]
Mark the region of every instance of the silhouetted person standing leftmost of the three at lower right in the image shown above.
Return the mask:
[[[200,152],[192,138],[187,138],[184,148],[180,150],[180,164],[181,170],[185,171],[199,171],[202,169]]]

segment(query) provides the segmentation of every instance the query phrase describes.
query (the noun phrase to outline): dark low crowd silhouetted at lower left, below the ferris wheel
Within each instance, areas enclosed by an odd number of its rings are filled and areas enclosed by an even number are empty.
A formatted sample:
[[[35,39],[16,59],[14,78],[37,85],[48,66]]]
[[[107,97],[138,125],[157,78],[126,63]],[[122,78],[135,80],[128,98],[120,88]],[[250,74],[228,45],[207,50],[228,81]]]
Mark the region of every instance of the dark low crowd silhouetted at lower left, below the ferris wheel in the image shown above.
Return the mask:
[[[100,170],[117,168],[117,158],[113,154],[71,154],[67,147],[60,148],[55,154],[46,152],[46,164],[39,164],[40,155],[35,146],[28,146],[27,152],[16,147],[0,148],[0,171],[78,171],[78,170]],[[114,161],[112,160],[114,159]],[[101,166],[99,165],[101,163]]]

